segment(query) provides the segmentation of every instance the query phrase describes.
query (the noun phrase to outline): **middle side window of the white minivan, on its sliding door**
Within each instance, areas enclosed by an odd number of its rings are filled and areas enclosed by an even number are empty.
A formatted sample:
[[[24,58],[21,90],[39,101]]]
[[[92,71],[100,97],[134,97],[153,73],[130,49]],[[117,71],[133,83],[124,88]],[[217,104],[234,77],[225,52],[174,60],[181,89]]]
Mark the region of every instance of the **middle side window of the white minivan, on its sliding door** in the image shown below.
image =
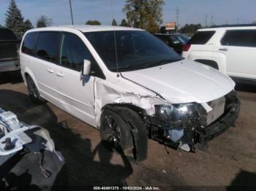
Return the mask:
[[[37,56],[46,61],[58,63],[60,39],[61,34],[59,32],[39,32]]]

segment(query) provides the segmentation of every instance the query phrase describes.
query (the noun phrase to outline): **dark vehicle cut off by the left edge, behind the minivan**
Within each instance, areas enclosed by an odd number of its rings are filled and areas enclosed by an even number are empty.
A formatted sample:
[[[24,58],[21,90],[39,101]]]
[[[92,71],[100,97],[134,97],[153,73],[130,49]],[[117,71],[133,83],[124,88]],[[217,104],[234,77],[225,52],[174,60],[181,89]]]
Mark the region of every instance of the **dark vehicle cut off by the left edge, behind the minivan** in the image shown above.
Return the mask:
[[[18,48],[20,40],[8,28],[0,28],[0,72],[20,70]]]

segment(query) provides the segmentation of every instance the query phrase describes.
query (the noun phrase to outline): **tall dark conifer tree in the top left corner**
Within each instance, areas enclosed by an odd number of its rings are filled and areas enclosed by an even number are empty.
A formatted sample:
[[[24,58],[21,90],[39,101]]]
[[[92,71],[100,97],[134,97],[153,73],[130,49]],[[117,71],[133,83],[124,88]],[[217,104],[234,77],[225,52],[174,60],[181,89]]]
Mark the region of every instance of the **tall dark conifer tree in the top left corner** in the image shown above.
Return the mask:
[[[10,28],[16,36],[21,37],[26,32],[26,28],[23,23],[23,16],[21,15],[20,9],[18,9],[15,0],[10,1],[10,5],[5,13],[6,20],[5,26]]]

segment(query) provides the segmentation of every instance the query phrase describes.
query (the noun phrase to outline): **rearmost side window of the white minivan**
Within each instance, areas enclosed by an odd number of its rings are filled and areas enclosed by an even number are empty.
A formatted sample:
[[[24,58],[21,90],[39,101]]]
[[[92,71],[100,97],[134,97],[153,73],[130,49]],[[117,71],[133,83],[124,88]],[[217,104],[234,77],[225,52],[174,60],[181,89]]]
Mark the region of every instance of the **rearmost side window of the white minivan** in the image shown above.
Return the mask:
[[[21,47],[21,52],[26,53],[28,55],[34,55],[34,47],[36,45],[37,41],[37,33],[29,33],[26,34],[22,47]]]

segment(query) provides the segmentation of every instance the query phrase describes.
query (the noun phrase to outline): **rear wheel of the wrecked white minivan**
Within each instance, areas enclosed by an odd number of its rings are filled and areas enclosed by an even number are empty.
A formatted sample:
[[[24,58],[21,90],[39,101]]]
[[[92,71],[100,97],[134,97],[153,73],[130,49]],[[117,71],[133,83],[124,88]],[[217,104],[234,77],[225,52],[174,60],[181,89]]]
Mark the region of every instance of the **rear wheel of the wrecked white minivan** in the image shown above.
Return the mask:
[[[45,103],[45,100],[40,97],[37,86],[35,85],[33,79],[30,76],[26,78],[26,83],[29,92],[29,98],[31,99],[31,101],[33,101],[35,104]]]

